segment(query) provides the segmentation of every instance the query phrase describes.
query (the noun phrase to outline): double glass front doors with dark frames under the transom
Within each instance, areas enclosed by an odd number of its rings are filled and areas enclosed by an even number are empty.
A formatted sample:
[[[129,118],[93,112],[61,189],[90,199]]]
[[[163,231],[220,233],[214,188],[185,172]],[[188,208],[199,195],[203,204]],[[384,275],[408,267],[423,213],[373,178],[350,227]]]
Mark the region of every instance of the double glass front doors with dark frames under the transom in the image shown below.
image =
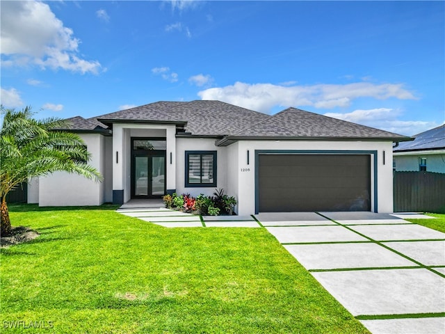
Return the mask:
[[[165,195],[165,152],[133,154],[132,198],[161,198]]]

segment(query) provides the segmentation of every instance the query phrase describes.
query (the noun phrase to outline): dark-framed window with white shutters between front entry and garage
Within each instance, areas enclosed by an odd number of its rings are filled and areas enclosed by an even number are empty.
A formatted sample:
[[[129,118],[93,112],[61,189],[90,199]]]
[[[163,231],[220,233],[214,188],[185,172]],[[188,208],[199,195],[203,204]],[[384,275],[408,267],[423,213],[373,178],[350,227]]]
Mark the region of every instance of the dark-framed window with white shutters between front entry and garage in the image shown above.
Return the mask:
[[[186,151],[186,186],[216,186],[216,151]]]

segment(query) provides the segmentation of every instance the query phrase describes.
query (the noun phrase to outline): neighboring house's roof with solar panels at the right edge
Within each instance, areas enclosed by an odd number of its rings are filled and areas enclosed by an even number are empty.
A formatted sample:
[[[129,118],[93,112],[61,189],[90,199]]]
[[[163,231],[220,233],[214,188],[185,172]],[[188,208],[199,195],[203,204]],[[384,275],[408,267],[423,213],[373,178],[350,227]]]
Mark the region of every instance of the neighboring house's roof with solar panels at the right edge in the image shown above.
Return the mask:
[[[426,132],[416,134],[414,141],[400,143],[394,152],[444,150],[445,148],[445,124]]]

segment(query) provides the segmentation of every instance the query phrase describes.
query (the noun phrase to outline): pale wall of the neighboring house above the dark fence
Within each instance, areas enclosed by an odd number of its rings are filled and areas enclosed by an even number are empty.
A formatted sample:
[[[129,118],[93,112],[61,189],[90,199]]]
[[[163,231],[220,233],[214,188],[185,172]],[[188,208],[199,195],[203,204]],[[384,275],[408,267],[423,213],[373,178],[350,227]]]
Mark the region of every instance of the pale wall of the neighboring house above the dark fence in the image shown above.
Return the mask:
[[[437,152],[394,152],[397,171],[419,171],[419,159],[426,158],[426,171],[445,173],[445,150]]]

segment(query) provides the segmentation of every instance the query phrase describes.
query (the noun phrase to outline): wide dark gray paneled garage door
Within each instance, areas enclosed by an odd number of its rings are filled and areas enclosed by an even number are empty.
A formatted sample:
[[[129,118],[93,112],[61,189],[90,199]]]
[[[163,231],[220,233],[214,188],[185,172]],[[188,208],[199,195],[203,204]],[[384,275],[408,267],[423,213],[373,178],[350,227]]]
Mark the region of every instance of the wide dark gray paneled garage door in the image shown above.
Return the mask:
[[[260,154],[259,212],[371,211],[366,154]]]

